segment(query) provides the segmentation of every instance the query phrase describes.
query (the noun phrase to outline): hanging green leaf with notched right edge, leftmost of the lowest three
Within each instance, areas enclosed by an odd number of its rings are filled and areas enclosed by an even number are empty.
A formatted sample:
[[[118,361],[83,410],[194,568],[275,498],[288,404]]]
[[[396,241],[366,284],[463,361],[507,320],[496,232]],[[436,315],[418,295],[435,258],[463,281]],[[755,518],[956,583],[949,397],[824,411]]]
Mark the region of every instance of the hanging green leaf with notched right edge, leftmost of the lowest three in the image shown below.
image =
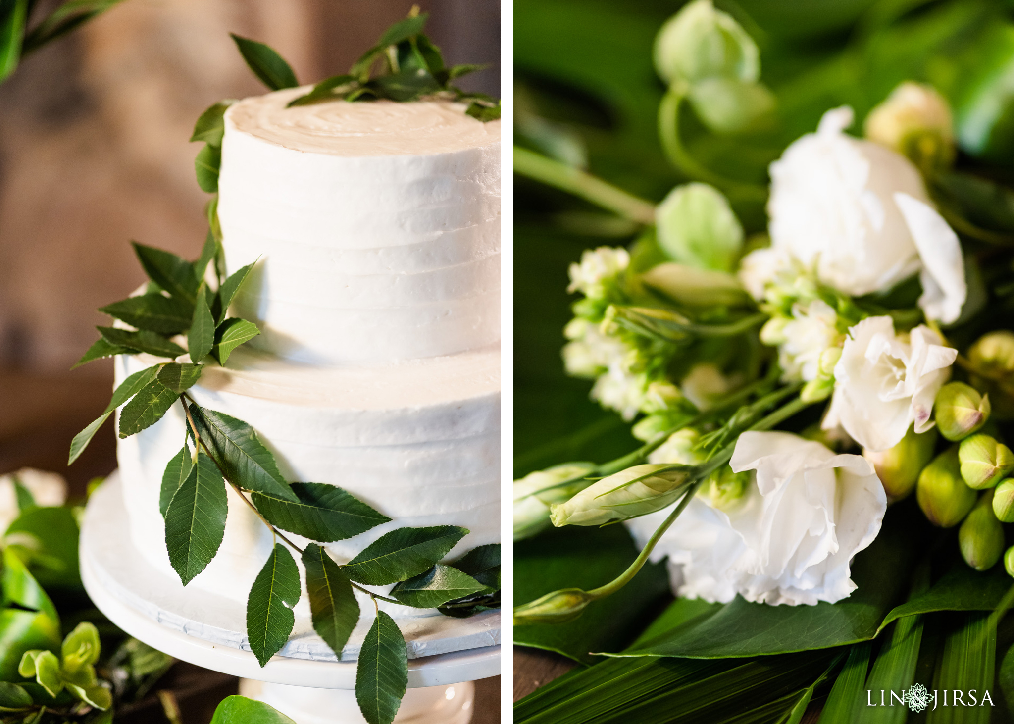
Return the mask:
[[[299,569],[292,554],[282,544],[275,544],[246,600],[246,637],[262,666],[289,640],[296,621],[292,607],[299,600]]]

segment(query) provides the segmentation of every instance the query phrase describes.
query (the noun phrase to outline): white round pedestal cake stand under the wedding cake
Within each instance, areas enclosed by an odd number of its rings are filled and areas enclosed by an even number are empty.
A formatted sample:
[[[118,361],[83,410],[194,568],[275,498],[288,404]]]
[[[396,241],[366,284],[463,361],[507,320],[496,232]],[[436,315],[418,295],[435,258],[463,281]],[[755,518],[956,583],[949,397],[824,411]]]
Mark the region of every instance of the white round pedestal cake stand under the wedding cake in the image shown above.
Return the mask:
[[[365,724],[353,692],[354,661],[275,656],[262,668],[250,651],[220,639],[209,641],[218,638],[214,635],[200,636],[214,632],[214,627],[195,622],[180,631],[160,623],[159,603],[150,600],[155,597],[152,572],[140,556],[132,555],[122,500],[119,480],[111,476],[92,494],[81,524],[81,579],[110,621],[174,658],[242,677],[240,693],[272,705],[296,724]],[[499,645],[410,659],[409,691],[394,721],[467,724],[473,681],[499,673]]]

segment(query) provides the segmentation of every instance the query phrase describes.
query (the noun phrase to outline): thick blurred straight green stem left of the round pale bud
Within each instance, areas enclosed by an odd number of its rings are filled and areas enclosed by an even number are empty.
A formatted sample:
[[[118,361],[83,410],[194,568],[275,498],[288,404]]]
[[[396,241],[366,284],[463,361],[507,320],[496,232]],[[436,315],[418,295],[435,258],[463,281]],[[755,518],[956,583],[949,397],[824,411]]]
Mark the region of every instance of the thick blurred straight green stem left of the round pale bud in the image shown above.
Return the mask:
[[[655,223],[655,205],[628,194],[601,178],[547,158],[526,148],[514,147],[514,172],[578,196],[639,224]]]

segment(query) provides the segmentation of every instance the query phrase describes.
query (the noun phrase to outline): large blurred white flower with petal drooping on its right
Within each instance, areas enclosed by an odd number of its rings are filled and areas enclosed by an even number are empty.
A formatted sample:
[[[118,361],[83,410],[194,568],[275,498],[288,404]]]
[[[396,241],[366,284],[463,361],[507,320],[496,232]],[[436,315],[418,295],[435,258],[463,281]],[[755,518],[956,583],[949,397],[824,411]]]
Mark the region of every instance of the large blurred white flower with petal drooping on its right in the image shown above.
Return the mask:
[[[852,108],[771,165],[772,245],[847,294],[884,291],[923,271],[927,316],[954,321],[967,294],[957,235],[930,205],[919,171],[894,151],[843,131]]]

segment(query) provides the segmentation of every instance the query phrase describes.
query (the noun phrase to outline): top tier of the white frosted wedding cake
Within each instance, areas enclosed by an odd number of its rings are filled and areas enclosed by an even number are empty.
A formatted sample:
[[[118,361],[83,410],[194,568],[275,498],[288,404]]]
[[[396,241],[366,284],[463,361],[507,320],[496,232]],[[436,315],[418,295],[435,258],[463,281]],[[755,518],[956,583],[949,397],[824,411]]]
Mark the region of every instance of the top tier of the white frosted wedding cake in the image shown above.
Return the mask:
[[[449,102],[225,115],[218,216],[251,344],[322,365],[451,355],[500,339],[500,122]]]

